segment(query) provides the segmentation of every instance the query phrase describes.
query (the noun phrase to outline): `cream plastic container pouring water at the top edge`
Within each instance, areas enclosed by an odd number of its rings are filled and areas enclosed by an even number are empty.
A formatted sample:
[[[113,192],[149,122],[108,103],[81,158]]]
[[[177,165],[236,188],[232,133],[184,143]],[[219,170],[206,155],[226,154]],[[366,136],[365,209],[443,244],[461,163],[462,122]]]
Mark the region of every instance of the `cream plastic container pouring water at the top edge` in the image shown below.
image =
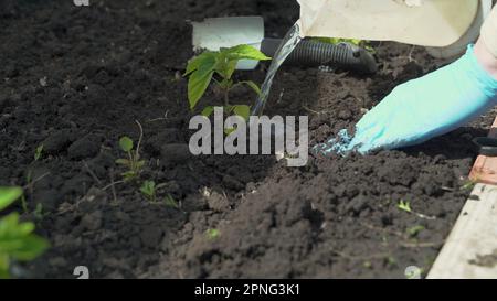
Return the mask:
[[[457,42],[474,24],[479,8],[479,0],[297,1],[302,36],[396,41],[436,47]],[[491,0],[483,2],[491,7]]]

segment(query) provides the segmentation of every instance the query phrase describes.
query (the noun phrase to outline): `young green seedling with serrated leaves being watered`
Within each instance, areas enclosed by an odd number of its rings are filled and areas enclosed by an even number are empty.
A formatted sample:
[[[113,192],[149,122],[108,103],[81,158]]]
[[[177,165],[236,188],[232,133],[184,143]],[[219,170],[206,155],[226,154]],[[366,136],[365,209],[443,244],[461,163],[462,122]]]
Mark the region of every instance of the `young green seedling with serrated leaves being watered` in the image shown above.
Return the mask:
[[[187,66],[183,76],[188,76],[188,100],[190,109],[194,109],[205,94],[205,90],[215,83],[214,92],[222,96],[224,100],[224,111],[244,118],[250,116],[250,106],[246,105],[230,105],[230,90],[240,85],[251,87],[257,95],[261,94],[260,87],[251,80],[243,80],[235,83],[232,78],[236,65],[240,60],[256,60],[267,61],[267,57],[261,51],[250,45],[237,45],[230,49],[221,49],[220,51],[205,51],[202,54],[193,57]],[[202,115],[210,116],[214,108],[208,106],[203,108]]]

